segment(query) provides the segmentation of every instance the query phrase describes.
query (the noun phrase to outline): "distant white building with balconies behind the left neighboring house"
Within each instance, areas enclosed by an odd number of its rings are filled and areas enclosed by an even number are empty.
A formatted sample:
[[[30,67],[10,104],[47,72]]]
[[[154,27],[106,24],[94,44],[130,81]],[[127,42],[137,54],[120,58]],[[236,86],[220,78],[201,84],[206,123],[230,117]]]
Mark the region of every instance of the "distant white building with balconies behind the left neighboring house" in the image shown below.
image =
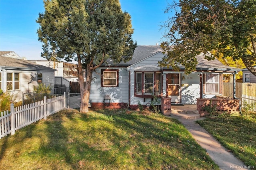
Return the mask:
[[[46,67],[50,67],[52,69],[56,69],[55,76],[56,77],[64,77],[68,81],[78,81],[77,77],[77,65],[74,63],[68,62],[57,62],[57,61],[47,61],[47,60],[29,60],[30,62],[37,63],[40,65],[44,65]]]

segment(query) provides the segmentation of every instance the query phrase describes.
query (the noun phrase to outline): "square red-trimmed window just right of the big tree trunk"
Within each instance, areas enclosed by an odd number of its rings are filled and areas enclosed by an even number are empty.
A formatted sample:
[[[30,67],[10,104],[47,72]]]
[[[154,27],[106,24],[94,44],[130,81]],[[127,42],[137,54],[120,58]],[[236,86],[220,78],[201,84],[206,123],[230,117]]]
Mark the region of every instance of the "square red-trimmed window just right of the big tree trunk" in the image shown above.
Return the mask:
[[[106,69],[101,70],[101,86],[102,87],[118,87],[118,70]]]

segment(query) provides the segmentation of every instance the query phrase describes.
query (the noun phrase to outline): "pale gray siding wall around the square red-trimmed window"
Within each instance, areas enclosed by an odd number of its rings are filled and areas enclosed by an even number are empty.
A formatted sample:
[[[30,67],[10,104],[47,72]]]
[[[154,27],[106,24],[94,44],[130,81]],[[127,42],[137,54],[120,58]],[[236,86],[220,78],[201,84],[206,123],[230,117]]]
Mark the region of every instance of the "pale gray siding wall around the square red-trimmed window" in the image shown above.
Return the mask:
[[[96,73],[92,74],[94,79],[90,91],[90,100],[92,100],[92,103],[102,103],[104,95],[110,95],[112,103],[128,103],[129,72],[126,71],[126,68],[111,68],[119,70],[118,87],[101,87],[101,69],[110,68],[100,67],[96,70]]]

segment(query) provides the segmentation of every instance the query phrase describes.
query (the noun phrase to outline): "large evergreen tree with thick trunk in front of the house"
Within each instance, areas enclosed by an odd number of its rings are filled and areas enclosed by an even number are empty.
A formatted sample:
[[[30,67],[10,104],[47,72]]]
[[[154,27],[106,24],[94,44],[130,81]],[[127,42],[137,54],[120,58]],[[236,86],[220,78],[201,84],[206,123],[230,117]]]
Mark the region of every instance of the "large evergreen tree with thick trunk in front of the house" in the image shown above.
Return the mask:
[[[78,61],[80,111],[86,113],[93,71],[106,59],[119,63],[132,58],[136,43],[131,17],[122,12],[119,0],[44,0],[44,8],[36,21],[41,56]]]

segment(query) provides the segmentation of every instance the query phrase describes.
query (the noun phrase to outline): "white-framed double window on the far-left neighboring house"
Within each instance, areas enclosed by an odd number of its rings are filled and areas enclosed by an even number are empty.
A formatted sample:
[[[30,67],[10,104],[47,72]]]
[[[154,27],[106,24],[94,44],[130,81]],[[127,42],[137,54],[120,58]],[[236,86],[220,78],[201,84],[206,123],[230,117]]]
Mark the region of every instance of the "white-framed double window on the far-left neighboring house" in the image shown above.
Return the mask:
[[[20,89],[20,73],[6,73],[6,74],[7,74],[7,79],[6,79],[7,90]]]

